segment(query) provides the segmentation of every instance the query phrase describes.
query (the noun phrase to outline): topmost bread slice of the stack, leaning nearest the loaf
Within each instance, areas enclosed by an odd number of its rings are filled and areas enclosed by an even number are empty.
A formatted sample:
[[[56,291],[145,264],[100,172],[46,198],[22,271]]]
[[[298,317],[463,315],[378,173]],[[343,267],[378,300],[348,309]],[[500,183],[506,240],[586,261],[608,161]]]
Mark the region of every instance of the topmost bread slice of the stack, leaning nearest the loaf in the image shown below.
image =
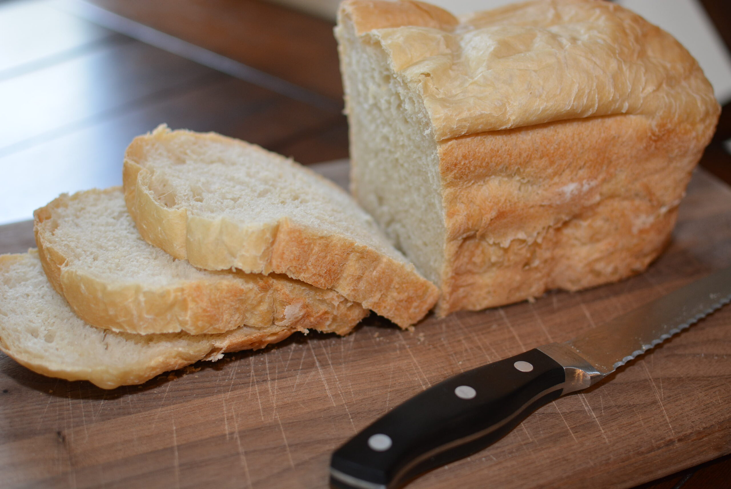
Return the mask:
[[[124,193],[144,239],[202,269],[285,274],[402,327],[439,295],[344,190],[253,144],[158,127],[129,145]]]

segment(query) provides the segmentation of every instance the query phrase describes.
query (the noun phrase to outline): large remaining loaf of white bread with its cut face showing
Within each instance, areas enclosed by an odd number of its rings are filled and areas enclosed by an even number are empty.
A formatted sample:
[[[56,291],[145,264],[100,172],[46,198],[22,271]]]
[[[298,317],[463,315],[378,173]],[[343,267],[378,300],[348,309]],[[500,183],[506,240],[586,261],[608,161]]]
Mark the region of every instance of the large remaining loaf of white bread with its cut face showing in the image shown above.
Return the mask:
[[[440,315],[645,269],[719,116],[692,56],[603,0],[346,0],[336,37],[352,193]]]

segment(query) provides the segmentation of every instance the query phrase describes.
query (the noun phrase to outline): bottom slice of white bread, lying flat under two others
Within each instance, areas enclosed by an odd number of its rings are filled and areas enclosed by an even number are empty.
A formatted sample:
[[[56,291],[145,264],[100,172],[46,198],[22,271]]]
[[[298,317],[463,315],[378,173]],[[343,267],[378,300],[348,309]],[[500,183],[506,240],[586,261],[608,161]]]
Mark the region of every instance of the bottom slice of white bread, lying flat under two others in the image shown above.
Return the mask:
[[[134,335],[95,328],[53,290],[36,250],[0,255],[0,349],[45,376],[88,380],[102,389],[142,384],[228,351],[263,348],[294,331],[276,324],[217,335]]]

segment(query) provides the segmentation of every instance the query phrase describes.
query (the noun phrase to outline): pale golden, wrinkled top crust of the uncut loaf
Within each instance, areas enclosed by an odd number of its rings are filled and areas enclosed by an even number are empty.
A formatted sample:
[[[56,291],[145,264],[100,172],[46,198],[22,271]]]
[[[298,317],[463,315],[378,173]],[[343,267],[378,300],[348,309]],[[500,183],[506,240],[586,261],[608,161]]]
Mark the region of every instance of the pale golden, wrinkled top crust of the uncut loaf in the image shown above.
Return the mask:
[[[346,0],[338,12],[338,24],[382,46],[423,100],[436,141],[616,114],[705,126],[719,111],[688,51],[616,4],[540,0],[447,15],[385,0]]]

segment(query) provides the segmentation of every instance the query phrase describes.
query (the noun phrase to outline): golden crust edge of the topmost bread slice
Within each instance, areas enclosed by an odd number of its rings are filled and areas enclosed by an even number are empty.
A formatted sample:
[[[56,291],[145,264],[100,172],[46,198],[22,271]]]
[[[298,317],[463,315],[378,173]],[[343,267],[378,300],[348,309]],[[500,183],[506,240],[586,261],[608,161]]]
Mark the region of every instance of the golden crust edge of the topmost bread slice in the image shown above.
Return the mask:
[[[168,133],[159,128],[135,138],[124,160],[127,208],[140,234],[152,245],[202,269],[273,272],[332,289],[404,328],[435,304],[439,291],[412,264],[395,261],[346,236],[324,235],[286,217],[277,223],[246,225],[226,217],[189,215],[184,208],[169,209],[151,189],[151,171],[143,163],[145,146]],[[213,133],[197,137],[241,143]]]

